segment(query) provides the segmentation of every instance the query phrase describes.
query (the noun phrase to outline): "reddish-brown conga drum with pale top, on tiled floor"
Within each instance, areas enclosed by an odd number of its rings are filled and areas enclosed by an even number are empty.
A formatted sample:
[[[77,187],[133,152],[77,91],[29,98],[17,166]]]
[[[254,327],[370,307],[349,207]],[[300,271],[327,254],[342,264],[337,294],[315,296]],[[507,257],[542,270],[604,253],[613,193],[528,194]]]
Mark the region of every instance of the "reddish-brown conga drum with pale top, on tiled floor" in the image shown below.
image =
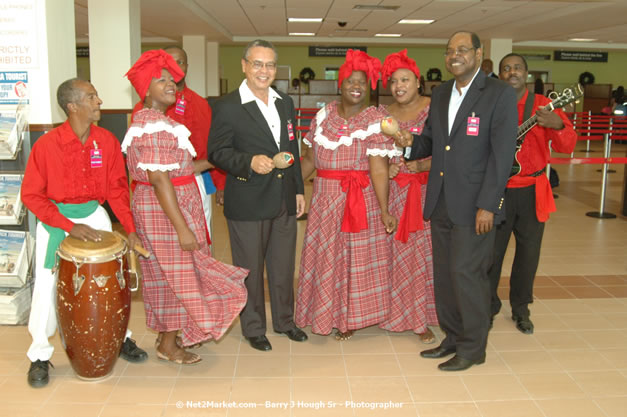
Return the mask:
[[[68,236],[57,251],[61,341],[74,372],[86,380],[113,370],[131,311],[127,245],[113,233],[100,233],[100,242]]]

